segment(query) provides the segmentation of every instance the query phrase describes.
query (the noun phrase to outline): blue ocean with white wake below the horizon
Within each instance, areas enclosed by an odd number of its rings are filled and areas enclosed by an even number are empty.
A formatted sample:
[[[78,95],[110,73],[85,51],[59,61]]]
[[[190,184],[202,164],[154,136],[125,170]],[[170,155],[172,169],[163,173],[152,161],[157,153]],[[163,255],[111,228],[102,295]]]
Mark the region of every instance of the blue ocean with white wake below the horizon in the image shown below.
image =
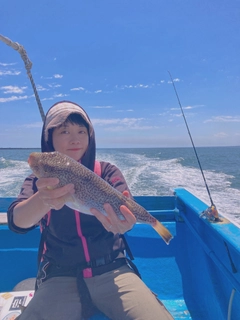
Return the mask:
[[[18,195],[30,174],[28,155],[40,149],[0,149],[0,197]],[[220,214],[240,226],[240,147],[197,148]],[[192,148],[97,149],[97,159],[117,165],[133,195],[170,195],[183,187],[210,205]]]

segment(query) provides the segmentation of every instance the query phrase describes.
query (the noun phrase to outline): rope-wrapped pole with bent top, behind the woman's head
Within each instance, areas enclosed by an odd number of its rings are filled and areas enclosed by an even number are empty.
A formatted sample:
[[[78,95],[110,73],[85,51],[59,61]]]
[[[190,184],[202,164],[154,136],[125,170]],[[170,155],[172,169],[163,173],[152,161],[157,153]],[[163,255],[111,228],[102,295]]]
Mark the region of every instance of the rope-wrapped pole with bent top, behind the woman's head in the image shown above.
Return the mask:
[[[33,88],[33,91],[34,91],[34,95],[35,95],[35,98],[36,98],[36,101],[37,101],[37,104],[38,104],[38,109],[39,109],[40,115],[42,117],[42,121],[44,122],[45,114],[44,114],[43,107],[42,107],[42,104],[41,104],[41,101],[40,101],[40,98],[39,98],[39,95],[38,95],[38,92],[37,92],[37,88],[36,88],[35,82],[33,80],[33,76],[31,74],[32,62],[29,60],[26,50],[19,43],[13,42],[9,38],[4,37],[1,34],[0,34],[0,40],[3,41],[8,46],[10,46],[11,48],[13,48],[14,50],[18,51],[18,53],[21,55],[21,58],[22,58],[22,60],[23,60],[23,62],[25,64],[25,69],[27,70],[27,75],[28,75],[28,77],[30,79],[30,82],[31,82],[31,85],[32,85],[32,88]]]

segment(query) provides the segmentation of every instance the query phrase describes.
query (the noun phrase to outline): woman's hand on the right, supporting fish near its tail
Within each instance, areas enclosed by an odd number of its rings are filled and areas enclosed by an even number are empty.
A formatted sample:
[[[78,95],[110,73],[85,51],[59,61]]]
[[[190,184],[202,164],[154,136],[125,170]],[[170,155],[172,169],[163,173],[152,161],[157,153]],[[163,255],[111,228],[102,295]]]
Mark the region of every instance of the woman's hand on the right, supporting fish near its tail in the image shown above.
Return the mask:
[[[128,191],[123,191],[123,195],[130,197]],[[116,213],[114,212],[112,206],[109,203],[104,204],[104,209],[107,213],[107,216],[103,215],[100,211],[95,208],[91,209],[92,214],[102,223],[104,228],[114,234],[120,233],[123,234],[128,230],[131,230],[134,224],[136,223],[136,218],[132,212],[124,205],[120,206],[120,211],[124,216],[124,220],[120,220]]]

